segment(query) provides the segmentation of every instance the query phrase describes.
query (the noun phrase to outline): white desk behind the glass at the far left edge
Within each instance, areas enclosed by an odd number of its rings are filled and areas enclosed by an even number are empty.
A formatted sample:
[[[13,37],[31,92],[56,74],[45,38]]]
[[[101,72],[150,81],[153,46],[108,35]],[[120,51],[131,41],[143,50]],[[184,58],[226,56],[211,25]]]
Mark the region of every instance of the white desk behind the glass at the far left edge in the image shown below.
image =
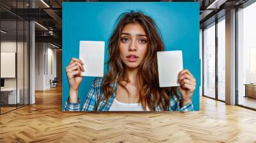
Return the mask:
[[[17,103],[20,103],[20,89],[17,88],[17,91],[18,91],[17,92],[18,94],[17,94],[17,98],[16,98],[16,88],[1,89],[1,100],[6,104],[16,104],[16,101],[17,101]],[[7,100],[7,98],[8,98],[8,100]]]

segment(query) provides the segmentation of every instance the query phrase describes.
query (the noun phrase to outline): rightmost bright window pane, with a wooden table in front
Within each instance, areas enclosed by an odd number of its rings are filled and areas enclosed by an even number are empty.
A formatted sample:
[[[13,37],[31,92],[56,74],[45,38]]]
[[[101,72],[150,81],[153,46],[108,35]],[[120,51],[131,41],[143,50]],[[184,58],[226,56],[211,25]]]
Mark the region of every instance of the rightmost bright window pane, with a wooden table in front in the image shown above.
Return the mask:
[[[256,109],[256,3],[237,11],[237,103]]]

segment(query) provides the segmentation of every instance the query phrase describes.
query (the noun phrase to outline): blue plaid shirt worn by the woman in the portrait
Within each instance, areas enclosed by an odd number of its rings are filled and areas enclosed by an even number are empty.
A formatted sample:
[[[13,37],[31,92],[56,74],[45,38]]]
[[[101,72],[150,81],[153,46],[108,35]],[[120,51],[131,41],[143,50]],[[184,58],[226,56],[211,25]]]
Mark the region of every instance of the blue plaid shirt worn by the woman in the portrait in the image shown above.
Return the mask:
[[[92,87],[90,89],[90,92],[86,96],[82,109],[80,106],[80,102],[70,103],[69,100],[67,99],[67,101],[65,102],[64,110],[65,111],[94,111],[95,104],[103,96],[102,87],[101,87],[102,82],[103,82],[102,77],[97,77],[95,78],[95,80],[93,80]],[[108,111],[110,109],[113,103],[113,100],[115,99],[115,96],[116,96],[117,82],[112,82],[110,86],[113,87],[113,94],[110,96],[108,102],[106,99],[100,101],[97,107],[97,111]],[[179,92],[178,94],[180,96]],[[154,110],[163,111],[163,107],[157,106]],[[181,107],[181,99],[178,99],[176,96],[172,96],[172,98],[170,98],[170,107],[168,110],[169,111],[192,111],[194,110],[194,108],[193,108],[192,102],[187,103],[186,105]]]

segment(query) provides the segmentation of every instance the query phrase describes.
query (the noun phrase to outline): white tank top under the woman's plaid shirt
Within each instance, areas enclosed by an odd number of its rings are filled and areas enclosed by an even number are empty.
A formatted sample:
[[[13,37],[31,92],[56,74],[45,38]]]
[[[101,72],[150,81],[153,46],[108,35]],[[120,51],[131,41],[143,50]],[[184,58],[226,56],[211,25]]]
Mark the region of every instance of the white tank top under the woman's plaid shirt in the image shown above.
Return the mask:
[[[114,99],[109,111],[143,111],[141,103],[122,103]],[[150,111],[147,107],[147,111]]]

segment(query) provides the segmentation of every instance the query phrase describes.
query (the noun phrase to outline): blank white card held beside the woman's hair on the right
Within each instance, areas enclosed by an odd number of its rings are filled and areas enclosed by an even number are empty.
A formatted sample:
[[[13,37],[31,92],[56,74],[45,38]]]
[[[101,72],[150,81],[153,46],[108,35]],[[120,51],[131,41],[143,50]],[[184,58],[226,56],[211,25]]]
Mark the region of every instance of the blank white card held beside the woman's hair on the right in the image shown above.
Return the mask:
[[[182,51],[157,52],[160,87],[180,86],[178,74],[183,70]]]

